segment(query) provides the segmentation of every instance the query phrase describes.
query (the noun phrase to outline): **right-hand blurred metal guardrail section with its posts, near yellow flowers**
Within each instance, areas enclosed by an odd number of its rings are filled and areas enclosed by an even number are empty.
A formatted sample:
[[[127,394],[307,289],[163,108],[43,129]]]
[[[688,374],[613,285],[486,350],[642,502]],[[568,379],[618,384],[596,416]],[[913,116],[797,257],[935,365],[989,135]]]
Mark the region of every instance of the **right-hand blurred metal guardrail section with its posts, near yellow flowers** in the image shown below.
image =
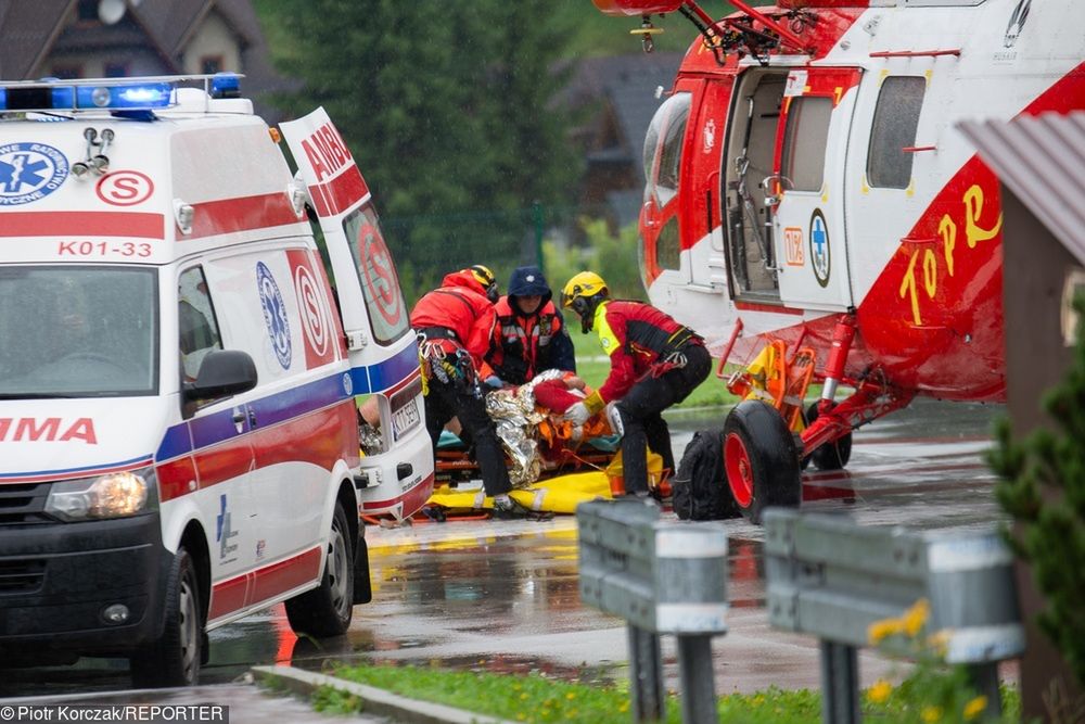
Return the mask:
[[[946,662],[969,669],[988,715],[1000,711],[997,665],[1024,651],[1024,628],[996,532],[920,533],[776,508],[765,513],[765,559],[771,625],[821,639],[825,722],[859,722],[856,649],[869,646],[870,624],[919,599],[930,604],[927,631],[946,633]]]

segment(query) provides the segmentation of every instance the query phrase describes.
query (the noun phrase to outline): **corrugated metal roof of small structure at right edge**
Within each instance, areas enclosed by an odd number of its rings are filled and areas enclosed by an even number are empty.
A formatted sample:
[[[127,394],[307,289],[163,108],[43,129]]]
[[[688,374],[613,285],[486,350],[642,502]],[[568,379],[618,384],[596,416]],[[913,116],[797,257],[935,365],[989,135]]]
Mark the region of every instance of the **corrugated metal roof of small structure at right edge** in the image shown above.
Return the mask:
[[[958,127],[999,180],[1085,265],[1085,112]]]

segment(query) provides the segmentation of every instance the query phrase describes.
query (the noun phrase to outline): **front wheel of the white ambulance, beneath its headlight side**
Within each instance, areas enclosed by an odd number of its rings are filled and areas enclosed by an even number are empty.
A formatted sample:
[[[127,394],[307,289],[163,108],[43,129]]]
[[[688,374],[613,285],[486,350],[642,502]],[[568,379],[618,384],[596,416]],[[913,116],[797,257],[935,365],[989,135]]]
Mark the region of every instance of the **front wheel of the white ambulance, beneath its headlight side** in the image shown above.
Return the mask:
[[[195,566],[181,546],[174,556],[166,582],[166,623],[162,638],[130,659],[136,688],[196,684],[207,643],[200,600]]]

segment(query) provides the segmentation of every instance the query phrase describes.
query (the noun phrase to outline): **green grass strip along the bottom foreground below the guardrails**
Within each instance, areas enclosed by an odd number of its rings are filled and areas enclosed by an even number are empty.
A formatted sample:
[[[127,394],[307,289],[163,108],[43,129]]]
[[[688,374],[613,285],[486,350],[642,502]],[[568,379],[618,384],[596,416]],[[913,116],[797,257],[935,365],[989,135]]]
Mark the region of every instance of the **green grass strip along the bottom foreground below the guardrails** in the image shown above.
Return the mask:
[[[437,668],[362,664],[336,666],[332,675],[373,686],[400,696],[457,707],[477,714],[516,722],[561,724],[625,724],[631,719],[628,682],[600,682],[589,673],[587,681],[559,681],[539,673],[525,675],[493,674],[475,671],[447,671]],[[922,693],[897,689],[881,703],[861,695],[866,719],[901,722],[920,721],[929,702]],[[1004,687],[1005,719],[1020,717],[1020,693]],[[314,706],[326,712],[360,711],[357,697],[323,688]],[[717,697],[716,710],[722,724],[816,724],[820,722],[821,695],[809,689],[783,690],[770,687],[755,694],[730,694]],[[671,694],[665,721],[681,720],[681,702]],[[940,720],[946,721],[946,720]]]

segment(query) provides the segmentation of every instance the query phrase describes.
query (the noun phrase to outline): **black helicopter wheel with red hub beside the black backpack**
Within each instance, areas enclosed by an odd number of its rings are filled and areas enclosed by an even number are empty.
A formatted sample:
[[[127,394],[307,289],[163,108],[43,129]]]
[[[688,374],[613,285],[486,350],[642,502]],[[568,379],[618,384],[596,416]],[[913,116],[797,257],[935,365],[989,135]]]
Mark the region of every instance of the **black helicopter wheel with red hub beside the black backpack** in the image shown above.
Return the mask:
[[[802,501],[799,454],[788,423],[760,399],[739,403],[724,423],[724,472],[739,511],[761,523],[765,508]]]

